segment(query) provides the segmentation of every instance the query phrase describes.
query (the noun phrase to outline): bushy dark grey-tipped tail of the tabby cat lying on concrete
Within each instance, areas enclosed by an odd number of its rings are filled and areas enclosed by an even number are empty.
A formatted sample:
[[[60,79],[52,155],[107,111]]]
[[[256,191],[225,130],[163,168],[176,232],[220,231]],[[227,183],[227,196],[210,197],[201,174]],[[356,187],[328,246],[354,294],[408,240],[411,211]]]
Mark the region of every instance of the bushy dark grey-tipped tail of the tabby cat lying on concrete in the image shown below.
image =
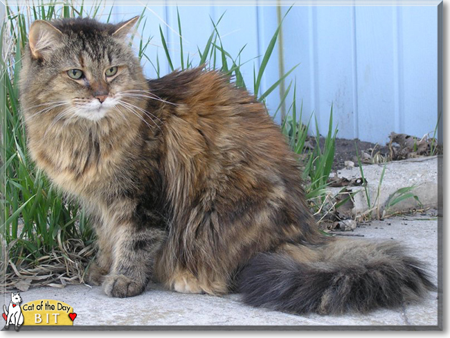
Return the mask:
[[[344,239],[259,253],[242,270],[239,287],[249,305],[296,314],[392,308],[436,288],[399,244]]]

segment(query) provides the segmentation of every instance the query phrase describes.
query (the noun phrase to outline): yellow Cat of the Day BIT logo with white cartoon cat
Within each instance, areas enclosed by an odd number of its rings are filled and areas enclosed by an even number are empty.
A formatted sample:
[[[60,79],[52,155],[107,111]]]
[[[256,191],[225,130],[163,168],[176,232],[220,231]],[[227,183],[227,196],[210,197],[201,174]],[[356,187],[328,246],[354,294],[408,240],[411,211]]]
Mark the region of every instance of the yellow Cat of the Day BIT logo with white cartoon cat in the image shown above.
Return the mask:
[[[15,325],[15,330],[19,330],[22,324],[24,326],[73,326],[73,321],[77,317],[71,305],[61,301],[39,299],[20,306],[21,301],[19,292],[12,293],[8,310],[3,305],[6,329],[10,324]]]

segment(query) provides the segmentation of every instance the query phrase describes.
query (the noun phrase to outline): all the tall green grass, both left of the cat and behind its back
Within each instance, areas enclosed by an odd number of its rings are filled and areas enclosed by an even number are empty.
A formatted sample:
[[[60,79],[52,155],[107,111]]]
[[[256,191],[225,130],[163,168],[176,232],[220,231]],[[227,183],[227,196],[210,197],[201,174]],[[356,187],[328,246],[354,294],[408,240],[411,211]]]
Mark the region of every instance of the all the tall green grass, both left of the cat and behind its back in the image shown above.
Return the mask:
[[[96,17],[105,9],[100,1],[97,5],[87,8],[87,6],[57,6],[56,1],[43,5],[42,1],[35,1],[37,6],[23,6],[21,8],[7,7],[8,19],[1,27],[0,49],[6,52],[0,62],[0,86],[1,86],[1,157],[0,174],[4,179],[0,185],[1,203],[1,238],[3,244],[8,246],[7,266],[3,266],[3,272],[10,279],[15,278],[15,270],[22,276],[30,274],[33,283],[61,283],[65,280],[82,280],[82,269],[89,262],[93,253],[92,243],[93,232],[89,226],[89,220],[84,215],[82,209],[76,202],[69,201],[55,190],[47,177],[40,170],[37,170],[33,161],[30,160],[26,148],[26,134],[22,121],[17,82],[21,76],[21,55],[27,42],[26,32],[28,30],[28,19],[51,20],[60,17]],[[38,4],[39,3],[39,4]],[[289,12],[289,10],[288,10]],[[31,18],[24,13],[30,13]],[[287,15],[287,14],[286,14]],[[223,15],[222,15],[223,17]],[[242,46],[237,55],[231,55],[226,51],[226,46],[222,44],[219,34],[220,17],[213,22],[214,29],[210,33],[204,48],[198,48],[198,60],[192,55],[183,53],[183,39],[180,38],[179,60],[182,69],[192,68],[207,64],[209,68],[219,69],[231,75],[231,78],[238,87],[246,88],[246,83],[240,71],[240,67],[246,62],[254,62],[254,59],[241,62],[241,53],[245,46]],[[111,11],[107,20],[111,18]],[[143,32],[147,18],[143,14],[138,21],[136,30],[132,38],[139,31]],[[177,12],[178,33],[182,35],[182,18]],[[260,84],[264,71],[267,69],[269,60],[273,55],[280,34],[282,22],[273,33],[271,41],[264,51],[258,72],[254,72],[253,87],[255,95],[262,103],[282,82],[294,71],[296,66],[289,69],[287,73],[280,76],[280,79],[271,84],[266,91],[260,93]],[[163,45],[165,59],[174,69],[172,57],[166,44],[166,37],[160,28],[159,35]],[[151,38],[143,39],[143,34],[138,41],[138,57],[141,60],[149,61],[158,76],[161,73],[159,57],[150,60],[146,55]],[[298,66],[298,65],[297,65]],[[290,82],[285,93],[282,95],[281,103],[276,109],[278,114],[291,89],[294,92],[294,100],[290,105],[287,118],[282,123],[282,132],[286,135],[291,148],[305,159],[304,178],[310,181],[305,187],[307,197],[319,205],[321,196],[326,186],[326,180],[330,174],[333,156],[334,139],[337,130],[332,129],[332,111],[330,112],[330,128],[325,138],[325,147],[320,148],[317,142],[313,151],[303,149],[307,137],[308,125],[298,123],[301,121],[302,107],[298,109],[296,103],[296,84],[292,88]],[[311,121],[311,118],[309,119]],[[316,129],[316,139],[318,141],[318,129]],[[75,241],[75,242],[74,242]],[[75,252],[76,251],[76,252]],[[62,260],[64,263],[61,263]],[[78,264],[78,260],[80,264]],[[42,269],[37,271],[35,267],[53,265],[59,262],[58,269]],[[75,263],[74,263],[75,262]],[[45,264],[44,264],[45,263]],[[69,269],[69,267],[71,267]],[[80,272],[81,271],[81,272]],[[34,277],[33,277],[34,276]],[[13,278],[14,277],[14,278]],[[66,279],[64,279],[66,278]],[[72,279],[71,279],[72,278]],[[77,279],[78,278],[78,279]],[[6,284],[8,286],[9,280]]]

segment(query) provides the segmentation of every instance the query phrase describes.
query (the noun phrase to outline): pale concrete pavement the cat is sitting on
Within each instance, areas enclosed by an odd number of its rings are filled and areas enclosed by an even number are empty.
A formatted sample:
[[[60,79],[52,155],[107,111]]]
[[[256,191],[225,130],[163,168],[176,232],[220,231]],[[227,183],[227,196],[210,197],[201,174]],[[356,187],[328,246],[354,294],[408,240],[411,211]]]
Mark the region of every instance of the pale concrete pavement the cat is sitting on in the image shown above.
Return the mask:
[[[366,238],[398,240],[408,247],[414,256],[424,260],[437,283],[438,276],[438,219],[437,217],[396,217],[384,221],[363,224],[345,235],[360,235]],[[9,303],[9,294],[4,303]],[[440,294],[442,296],[442,294]],[[239,294],[224,297],[179,294],[163,290],[151,284],[147,292],[129,299],[112,299],[103,294],[100,287],[68,285],[63,289],[39,287],[21,292],[24,303],[37,299],[55,299],[73,306],[78,314],[75,328],[101,326],[146,326],[170,328],[180,326],[276,326],[297,329],[325,326],[348,327],[375,326],[406,329],[421,326],[422,329],[437,329],[438,293],[429,292],[424,301],[404,304],[402,308],[382,309],[368,314],[348,313],[341,316],[307,314],[297,316],[261,308],[251,308],[240,302]],[[56,327],[55,327],[56,328]],[[24,327],[26,329],[26,327]],[[123,329],[123,327],[121,327]],[[126,329],[126,328],[125,328]]]

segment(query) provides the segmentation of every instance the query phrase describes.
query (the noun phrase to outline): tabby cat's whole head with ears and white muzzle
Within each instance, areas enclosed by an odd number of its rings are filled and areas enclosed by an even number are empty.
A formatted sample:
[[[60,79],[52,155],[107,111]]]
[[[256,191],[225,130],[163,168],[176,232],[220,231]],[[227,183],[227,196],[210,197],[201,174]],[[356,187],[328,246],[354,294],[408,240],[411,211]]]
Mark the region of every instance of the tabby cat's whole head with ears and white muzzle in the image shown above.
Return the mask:
[[[138,98],[133,90],[143,82],[127,39],[136,19],[118,25],[91,19],[36,21],[21,72],[21,94],[28,103],[24,113],[99,121],[119,114],[118,107],[131,108],[126,98]]]

